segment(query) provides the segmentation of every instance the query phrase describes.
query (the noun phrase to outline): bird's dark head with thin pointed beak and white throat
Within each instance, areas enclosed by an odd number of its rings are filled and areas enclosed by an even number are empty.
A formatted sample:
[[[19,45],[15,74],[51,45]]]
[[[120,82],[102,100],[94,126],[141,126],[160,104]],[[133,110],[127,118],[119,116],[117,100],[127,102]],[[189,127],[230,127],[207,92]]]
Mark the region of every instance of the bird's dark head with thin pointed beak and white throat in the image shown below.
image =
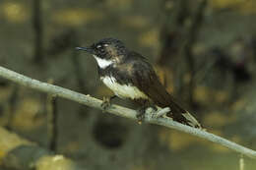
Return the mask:
[[[101,69],[121,63],[127,54],[124,43],[114,38],[104,38],[89,47],[77,47],[76,49],[93,54]]]

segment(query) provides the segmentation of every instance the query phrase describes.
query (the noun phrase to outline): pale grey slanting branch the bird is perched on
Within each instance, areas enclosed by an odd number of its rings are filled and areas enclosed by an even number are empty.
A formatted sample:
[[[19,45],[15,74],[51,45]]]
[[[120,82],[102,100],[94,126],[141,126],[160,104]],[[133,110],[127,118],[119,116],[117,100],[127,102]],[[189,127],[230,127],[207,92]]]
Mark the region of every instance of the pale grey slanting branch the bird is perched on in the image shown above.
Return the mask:
[[[78,93],[73,90],[63,88],[63,87],[60,87],[57,85],[45,84],[45,83],[33,80],[31,78],[28,78],[26,76],[23,76],[21,74],[18,74],[16,72],[13,72],[11,70],[5,69],[3,67],[0,67],[0,77],[3,77],[9,81],[15,82],[19,85],[25,85],[27,87],[31,87],[33,89],[43,91],[43,92],[49,93],[54,96],[63,97],[63,98],[73,100],[73,101],[79,102],[81,104],[84,104],[84,105],[87,105],[90,107],[95,107],[97,109],[102,110],[102,108],[100,107],[100,104],[102,103],[102,101],[99,99],[96,99],[90,95],[81,94],[81,93]],[[137,118],[136,118],[137,112],[135,110],[121,107],[118,105],[111,105],[111,107],[109,107],[109,109],[107,109],[106,112],[117,115],[117,116],[125,117],[128,119],[137,120]],[[191,128],[186,125],[182,125],[182,124],[180,124],[178,122],[174,122],[168,118],[154,118],[151,115],[147,114],[146,118],[145,118],[145,122],[161,125],[163,127],[167,127],[170,129],[175,129],[175,130],[208,140],[210,142],[219,143],[221,145],[224,145],[227,148],[230,148],[231,150],[234,150],[234,151],[242,153],[248,157],[256,159],[256,151],[254,151],[250,148],[246,148],[246,147],[239,145],[235,142],[229,142],[229,141],[225,140],[224,138],[221,138],[214,134],[211,134],[211,133],[199,130],[199,129]]]

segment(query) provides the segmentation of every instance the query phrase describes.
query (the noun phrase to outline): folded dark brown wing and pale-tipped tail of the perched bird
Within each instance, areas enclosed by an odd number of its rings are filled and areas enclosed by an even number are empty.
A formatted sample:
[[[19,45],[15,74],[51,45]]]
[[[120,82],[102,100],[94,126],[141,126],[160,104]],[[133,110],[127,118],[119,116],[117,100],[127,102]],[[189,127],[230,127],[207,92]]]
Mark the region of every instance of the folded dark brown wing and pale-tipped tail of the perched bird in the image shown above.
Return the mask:
[[[139,55],[135,53],[134,55]],[[192,127],[200,127],[196,119],[190,115],[185,109],[181,108],[172,96],[166,91],[165,87],[160,84],[160,80],[153,67],[143,58],[143,60],[133,60],[133,72],[131,74],[133,84],[141,91],[148,95],[151,100],[160,107],[169,107],[173,120]]]

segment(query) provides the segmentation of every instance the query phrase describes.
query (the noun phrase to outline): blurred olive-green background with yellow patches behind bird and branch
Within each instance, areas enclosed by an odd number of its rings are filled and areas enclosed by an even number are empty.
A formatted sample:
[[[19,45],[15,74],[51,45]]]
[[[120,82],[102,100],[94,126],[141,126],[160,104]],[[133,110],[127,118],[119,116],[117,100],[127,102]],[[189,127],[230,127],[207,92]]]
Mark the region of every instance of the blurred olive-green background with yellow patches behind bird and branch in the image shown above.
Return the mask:
[[[102,98],[111,91],[96,61],[75,47],[118,38],[209,132],[256,149],[255,17],[254,0],[1,0],[0,63]],[[239,169],[240,155],[212,142],[56,102],[56,152],[87,169]],[[48,105],[46,94],[0,79],[0,125],[44,147]]]

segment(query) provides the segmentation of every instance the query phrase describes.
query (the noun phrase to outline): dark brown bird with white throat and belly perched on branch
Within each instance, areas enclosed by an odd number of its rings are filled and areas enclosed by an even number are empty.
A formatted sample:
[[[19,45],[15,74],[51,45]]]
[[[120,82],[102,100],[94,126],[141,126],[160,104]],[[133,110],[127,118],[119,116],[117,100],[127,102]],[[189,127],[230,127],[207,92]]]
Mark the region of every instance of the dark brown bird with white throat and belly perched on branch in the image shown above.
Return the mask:
[[[148,107],[169,107],[166,116],[173,121],[201,129],[199,122],[179,104],[161,85],[153,66],[141,54],[130,50],[116,38],[102,38],[88,47],[76,47],[96,59],[97,73],[114,97],[132,100],[140,105],[138,118],[142,118]]]

